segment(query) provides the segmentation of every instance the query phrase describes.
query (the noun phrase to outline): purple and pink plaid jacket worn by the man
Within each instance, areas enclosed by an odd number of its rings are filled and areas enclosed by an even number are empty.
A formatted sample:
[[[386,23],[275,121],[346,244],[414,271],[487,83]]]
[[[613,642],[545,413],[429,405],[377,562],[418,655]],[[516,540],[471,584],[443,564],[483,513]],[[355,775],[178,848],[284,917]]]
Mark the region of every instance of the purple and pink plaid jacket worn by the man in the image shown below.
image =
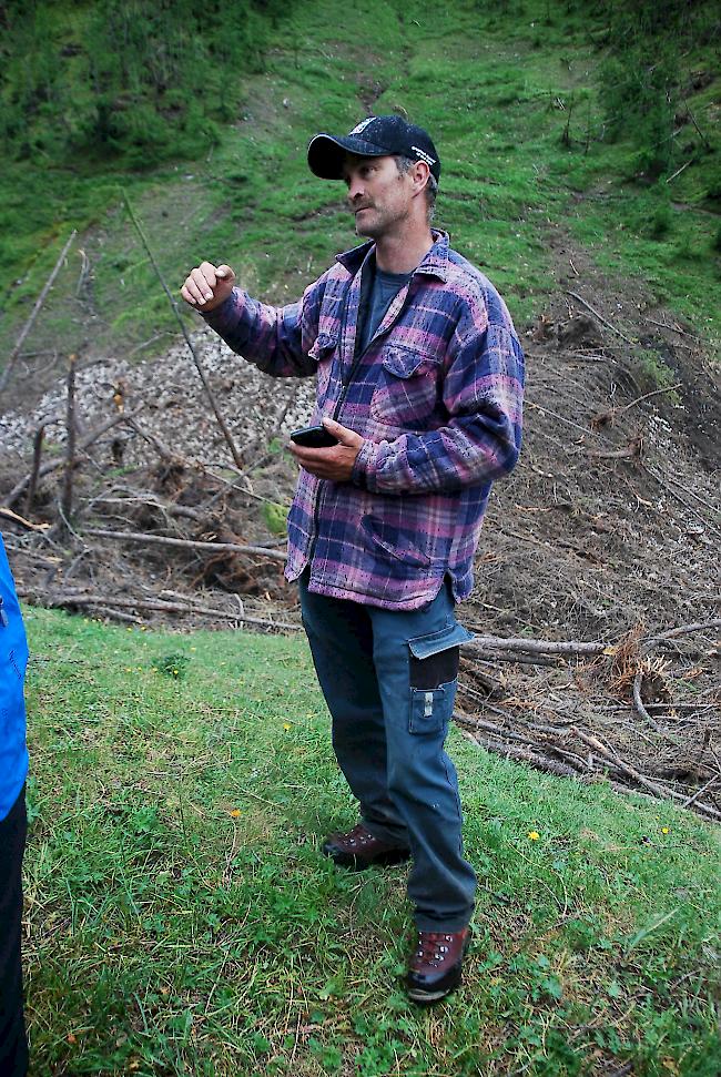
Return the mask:
[[[386,609],[431,601],[449,573],[457,601],[494,479],[521,436],[524,354],[490,282],[434,232],[365,353],[355,341],[366,243],[338,255],[299,303],[275,308],[235,288],[204,317],[273,377],[317,375],[313,423],[364,438],[351,482],[301,469],[286,577]]]

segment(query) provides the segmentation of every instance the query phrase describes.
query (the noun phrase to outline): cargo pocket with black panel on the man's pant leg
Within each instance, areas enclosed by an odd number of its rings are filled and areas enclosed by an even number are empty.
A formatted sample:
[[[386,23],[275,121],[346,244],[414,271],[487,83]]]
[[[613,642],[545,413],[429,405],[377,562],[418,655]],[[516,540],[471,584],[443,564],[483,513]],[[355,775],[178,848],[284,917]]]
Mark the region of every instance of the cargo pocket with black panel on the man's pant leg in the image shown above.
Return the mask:
[[[473,639],[461,624],[454,622],[439,632],[408,640],[410,668],[412,733],[438,733],[450,721],[460,644]]]

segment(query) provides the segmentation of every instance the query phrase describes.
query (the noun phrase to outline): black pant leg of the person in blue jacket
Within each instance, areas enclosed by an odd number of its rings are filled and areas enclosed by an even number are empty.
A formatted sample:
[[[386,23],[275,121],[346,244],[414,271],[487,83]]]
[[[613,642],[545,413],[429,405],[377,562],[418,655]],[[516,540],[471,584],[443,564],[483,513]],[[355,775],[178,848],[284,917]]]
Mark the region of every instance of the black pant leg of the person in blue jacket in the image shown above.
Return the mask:
[[[28,1073],[20,958],[27,829],[23,789],[0,822],[0,1077],[24,1077]]]

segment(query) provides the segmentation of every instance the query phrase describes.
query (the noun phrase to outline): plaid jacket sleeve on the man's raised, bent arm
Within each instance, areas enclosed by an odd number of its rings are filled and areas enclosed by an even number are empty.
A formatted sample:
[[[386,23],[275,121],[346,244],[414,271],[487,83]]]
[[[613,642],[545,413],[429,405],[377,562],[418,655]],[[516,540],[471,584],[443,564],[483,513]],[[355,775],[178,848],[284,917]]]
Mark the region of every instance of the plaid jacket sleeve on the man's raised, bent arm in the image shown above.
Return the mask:
[[[272,377],[309,377],[317,363],[308,356],[318,335],[325,274],[298,303],[274,307],[233,288],[227,299],[203,318],[225,343]]]

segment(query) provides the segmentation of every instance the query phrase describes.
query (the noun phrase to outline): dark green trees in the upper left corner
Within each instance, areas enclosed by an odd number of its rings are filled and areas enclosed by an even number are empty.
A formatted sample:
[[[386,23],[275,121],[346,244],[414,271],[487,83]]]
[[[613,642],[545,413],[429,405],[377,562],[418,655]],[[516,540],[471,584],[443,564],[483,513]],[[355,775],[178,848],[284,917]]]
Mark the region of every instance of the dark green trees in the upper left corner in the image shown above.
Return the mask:
[[[237,114],[238,75],[262,70],[280,10],[280,0],[11,0],[0,144],[16,160],[84,153],[130,167],[206,152]]]

